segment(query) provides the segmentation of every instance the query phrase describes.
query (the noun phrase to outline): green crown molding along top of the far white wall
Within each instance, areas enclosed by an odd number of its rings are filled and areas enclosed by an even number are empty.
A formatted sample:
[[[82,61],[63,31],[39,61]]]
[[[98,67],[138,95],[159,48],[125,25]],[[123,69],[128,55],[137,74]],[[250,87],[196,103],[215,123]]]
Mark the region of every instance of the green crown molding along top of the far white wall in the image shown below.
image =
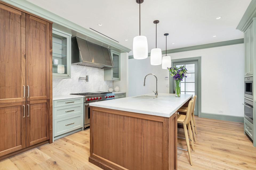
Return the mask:
[[[203,45],[190,46],[190,47],[183,47],[178,49],[171,49],[171,50],[167,50],[167,54],[179,53],[183,51],[200,50],[200,49],[213,48],[213,47],[221,47],[226,45],[242,44],[242,43],[243,43],[243,38],[236,39],[236,40],[203,44]],[[162,51],[162,54],[165,54],[165,50]],[[148,53],[148,56],[150,56],[150,53]],[[129,59],[133,59],[133,55],[130,55]]]

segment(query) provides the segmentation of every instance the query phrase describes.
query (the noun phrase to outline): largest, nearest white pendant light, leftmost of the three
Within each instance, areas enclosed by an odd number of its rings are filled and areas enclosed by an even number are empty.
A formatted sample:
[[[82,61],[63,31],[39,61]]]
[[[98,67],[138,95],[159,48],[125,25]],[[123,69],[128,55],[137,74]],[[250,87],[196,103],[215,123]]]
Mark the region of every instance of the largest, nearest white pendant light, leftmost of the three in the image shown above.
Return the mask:
[[[133,38],[133,58],[145,59],[148,56],[147,37],[141,36],[141,3],[144,0],[136,0],[139,4],[139,36]]]

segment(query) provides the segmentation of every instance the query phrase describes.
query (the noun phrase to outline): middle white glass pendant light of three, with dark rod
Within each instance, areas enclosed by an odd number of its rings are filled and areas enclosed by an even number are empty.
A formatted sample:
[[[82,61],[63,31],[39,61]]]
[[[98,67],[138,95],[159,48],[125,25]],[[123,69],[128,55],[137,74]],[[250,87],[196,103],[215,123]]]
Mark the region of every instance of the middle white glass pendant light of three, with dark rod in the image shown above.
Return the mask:
[[[157,48],[157,24],[159,21],[155,20],[153,23],[155,24],[155,49],[150,52],[150,63],[157,66],[162,64],[162,50]]]

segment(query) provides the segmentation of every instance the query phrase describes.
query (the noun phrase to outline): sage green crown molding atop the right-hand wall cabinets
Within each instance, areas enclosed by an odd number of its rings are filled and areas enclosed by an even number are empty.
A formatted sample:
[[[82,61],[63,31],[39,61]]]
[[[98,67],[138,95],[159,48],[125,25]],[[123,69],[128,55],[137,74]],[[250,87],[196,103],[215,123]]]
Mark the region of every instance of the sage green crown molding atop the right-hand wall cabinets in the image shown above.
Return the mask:
[[[256,0],[251,0],[236,29],[244,32],[251,24],[254,17],[256,17]]]

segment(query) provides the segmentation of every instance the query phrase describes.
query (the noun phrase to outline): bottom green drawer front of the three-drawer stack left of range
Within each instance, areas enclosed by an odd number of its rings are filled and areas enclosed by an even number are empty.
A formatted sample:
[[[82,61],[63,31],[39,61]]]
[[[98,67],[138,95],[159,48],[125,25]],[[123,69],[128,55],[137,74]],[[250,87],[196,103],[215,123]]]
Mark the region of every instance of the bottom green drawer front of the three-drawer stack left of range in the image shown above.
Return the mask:
[[[83,127],[83,114],[54,120],[54,137]]]

